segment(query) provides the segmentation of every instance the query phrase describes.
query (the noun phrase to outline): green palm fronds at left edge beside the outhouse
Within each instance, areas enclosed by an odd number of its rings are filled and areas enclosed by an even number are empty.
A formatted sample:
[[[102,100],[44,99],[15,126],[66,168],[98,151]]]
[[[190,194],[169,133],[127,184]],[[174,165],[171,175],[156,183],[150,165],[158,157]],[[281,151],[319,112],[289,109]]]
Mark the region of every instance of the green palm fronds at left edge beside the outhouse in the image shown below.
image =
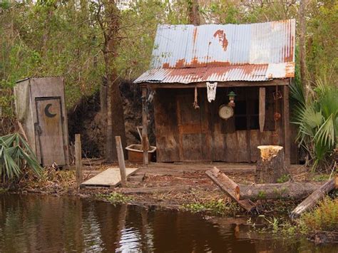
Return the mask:
[[[0,176],[9,179],[19,177],[26,165],[40,175],[41,166],[36,155],[19,133],[0,137]]]

